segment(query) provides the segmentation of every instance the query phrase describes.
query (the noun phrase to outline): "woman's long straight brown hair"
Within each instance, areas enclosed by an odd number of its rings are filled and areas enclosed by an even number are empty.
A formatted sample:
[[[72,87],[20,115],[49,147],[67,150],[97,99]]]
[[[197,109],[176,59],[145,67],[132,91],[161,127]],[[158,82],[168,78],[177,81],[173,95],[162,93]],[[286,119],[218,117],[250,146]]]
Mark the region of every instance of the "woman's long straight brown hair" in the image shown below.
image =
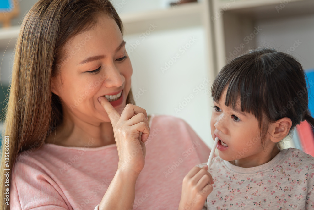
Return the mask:
[[[91,29],[100,14],[114,19],[122,33],[122,21],[107,0],[40,0],[25,16],[15,47],[12,81],[5,108],[1,148],[1,209],[9,210],[5,200],[9,186],[6,185],[4,172],[9,172],[11,180],[18,154],[38,149],[49,133],[62,122],[60,99],[50,91],[51,77],[59,73],[62,47],[71,37]],[[133,102],[130,90],[127,103]],[[9,159],[5,159],[5,155]]]

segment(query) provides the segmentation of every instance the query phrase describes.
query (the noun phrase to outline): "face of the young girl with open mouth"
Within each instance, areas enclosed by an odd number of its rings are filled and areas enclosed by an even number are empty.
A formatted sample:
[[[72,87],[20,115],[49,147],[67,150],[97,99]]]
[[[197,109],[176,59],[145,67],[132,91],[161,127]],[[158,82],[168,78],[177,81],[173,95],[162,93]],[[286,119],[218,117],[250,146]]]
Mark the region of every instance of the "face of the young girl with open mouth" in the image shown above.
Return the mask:
[[[226,89],[220,101],[214,101],[210,122],[213,139],[216,136],[220,139],[217,144],[219,156],[227,161],[236,160],[236,165],[241,167],[268,162],[261,145],[257,118],[253,114],[241,112],[240,101],[237,110],[225,106]],[[266,148],[271,146],[270,142],[266,141]]]

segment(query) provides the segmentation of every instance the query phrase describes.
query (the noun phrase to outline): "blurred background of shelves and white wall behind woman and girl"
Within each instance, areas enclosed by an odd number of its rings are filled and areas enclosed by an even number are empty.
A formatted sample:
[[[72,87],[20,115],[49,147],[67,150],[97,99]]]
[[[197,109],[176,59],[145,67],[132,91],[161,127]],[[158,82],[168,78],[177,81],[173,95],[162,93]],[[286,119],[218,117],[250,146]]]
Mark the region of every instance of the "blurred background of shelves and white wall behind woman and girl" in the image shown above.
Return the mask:
[[[0,12],[4,14],[0,15],[1,108],[5,106],[11,80],[19,25],[36,2],[0,3]],[[124,24],[136,104],[148,114],[184,119],[210,147],[210,87],[215,75],[231,59],[248,49],[273,47],[298,58],[307,70],[309,88],[314,84],[313,0],[111,2]],[[299,127],[293,138],[287,138],[285,147],[314,152],[313,143],[311,148],[305,146],[305,141],[313,142],[311,129],[308,125]]]

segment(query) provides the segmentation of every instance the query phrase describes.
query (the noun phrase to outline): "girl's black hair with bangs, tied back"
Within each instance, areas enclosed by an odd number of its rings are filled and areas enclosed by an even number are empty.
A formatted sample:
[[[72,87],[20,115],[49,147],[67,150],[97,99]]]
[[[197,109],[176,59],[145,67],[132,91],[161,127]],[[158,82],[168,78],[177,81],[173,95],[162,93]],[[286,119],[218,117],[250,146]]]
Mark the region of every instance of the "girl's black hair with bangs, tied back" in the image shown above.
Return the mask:
[[[226,106],[252,113],[259,122],[262,145],[269,123],[283,117],[292,121],[291,131],[306,120],[314,129],[308,109],[308,91],[302,65],[291,55],[275,49],[256,49],[226,64],[214,80],[212,97],[219,101],[227,88]]]

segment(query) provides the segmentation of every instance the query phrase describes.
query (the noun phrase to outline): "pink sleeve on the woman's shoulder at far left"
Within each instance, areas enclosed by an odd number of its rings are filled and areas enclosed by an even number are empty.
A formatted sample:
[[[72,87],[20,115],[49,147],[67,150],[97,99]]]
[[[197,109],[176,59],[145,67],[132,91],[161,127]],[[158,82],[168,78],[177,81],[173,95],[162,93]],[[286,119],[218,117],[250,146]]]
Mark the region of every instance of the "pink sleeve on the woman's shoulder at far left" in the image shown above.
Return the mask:
[[[10,182],[10,209],[73,210],[57,184],[31,162],[16,161]]]

